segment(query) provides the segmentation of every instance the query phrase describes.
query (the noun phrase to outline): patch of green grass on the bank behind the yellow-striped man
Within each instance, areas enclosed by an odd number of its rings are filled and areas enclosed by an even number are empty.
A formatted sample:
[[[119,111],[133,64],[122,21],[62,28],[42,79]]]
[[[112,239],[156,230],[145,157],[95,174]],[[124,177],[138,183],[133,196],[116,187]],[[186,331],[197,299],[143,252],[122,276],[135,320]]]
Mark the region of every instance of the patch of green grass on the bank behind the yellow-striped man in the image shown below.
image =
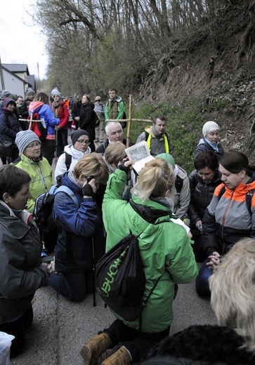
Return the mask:
[[[171,135],[171,143],[175,147],[174,159],[188,174],[194,169],[193,156],[195,147],[202,138],[202,126],[207,121],[207,113],[222,110],[229,104],[224,98],[204,104],[201,100],[178,102],[170,105],[164,102],[160,105],[144,104],[133,107],[133,119],[153,119],[156,115],[164,115],[167,119],[166,132]],[[131,141],[136,142],[138,135],[143,133],[148,122],[133,121],[131,124]],[[126,133],[126,131],[125,131]]]

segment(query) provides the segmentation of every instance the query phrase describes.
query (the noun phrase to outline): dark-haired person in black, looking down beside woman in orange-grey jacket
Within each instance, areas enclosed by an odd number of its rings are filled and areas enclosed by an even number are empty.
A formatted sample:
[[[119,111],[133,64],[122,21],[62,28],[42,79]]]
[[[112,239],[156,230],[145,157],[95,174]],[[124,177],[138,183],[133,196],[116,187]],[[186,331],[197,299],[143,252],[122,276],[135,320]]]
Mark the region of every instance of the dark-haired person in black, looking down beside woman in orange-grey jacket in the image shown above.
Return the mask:
[[[213,152],[201,152],[195,157],[195,170],[190,173],[190,206],[188,217],[190,218],[190,229],[192,245],[195,258],[203,262],[206,258],[202,246],[202,220],[204,211],[209,206],[214,195],[216,186],[221,184],[221,173],[218,171],[218,159]]]

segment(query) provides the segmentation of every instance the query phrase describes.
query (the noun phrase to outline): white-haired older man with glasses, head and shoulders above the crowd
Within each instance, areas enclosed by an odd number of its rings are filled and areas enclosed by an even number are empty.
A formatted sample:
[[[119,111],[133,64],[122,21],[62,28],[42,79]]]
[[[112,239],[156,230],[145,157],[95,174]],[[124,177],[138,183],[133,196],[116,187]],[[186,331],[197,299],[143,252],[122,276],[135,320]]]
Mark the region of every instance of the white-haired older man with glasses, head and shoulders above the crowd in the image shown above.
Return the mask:
[[[118,121],[108,121],[105,126],[105,133],[107,139],[96,149],[96,152],[104,154],[105,148],[110,142],[120,142],[126,145],[126,139],[124,138],[122,125]],[[133,143],[130,142],[130,145],[132,146]]]

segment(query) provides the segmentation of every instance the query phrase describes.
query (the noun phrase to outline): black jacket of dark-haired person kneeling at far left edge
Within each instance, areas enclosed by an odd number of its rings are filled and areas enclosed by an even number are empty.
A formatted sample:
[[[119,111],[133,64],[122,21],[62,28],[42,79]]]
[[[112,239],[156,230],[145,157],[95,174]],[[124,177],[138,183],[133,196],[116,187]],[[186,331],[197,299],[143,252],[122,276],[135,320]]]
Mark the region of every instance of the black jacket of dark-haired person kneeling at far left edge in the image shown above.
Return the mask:
[[[37,228],[11,214],[0,204],[0,324],[22,315],[50,275]]]

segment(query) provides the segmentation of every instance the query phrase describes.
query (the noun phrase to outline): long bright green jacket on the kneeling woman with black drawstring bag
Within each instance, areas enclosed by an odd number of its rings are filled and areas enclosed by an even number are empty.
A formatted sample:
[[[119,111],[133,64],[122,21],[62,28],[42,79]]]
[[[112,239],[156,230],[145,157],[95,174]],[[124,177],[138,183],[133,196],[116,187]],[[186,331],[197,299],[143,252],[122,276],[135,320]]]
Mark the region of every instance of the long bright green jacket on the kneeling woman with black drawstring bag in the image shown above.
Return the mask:
[[[197,276],[197,263],[192,252],[190,239],[185,229],[171,222],[171,211],[156,201],[141,201],[132,196],[134,204],[163,213],[155,224],[148,223],[122,200],[126,182],[126,173],[117,169],[110,175],[103,199],[103,221],[107,232],[106,250],[128,235],[130,231],[139,237],[140,255],[146,277],[143,299],[162,275],[142,312],[142,332],[157,333],[166,329],[173,321],[172,303],[176,295],[176,284],[186,284]],[[164,215],[164,212],[166,213]],[[160,214],[162,215],[162,214]],[[164,222],[165,220],[169,220]],[[157,224],[164,222],[161,224]],[[119,319],[117,314],[115,316]],[[123,321],[123,319],[122,319]],[[139,320],[126,322],[132,328],[138,328]]]

